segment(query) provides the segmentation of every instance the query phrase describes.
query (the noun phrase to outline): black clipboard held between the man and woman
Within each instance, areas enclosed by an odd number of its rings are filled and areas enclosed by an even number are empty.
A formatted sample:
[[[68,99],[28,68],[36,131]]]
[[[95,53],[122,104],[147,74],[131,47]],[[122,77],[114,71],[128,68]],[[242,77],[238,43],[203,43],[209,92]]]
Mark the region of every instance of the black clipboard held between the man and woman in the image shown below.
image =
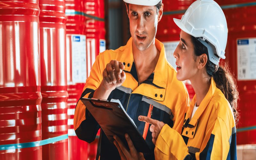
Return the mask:
[[[152,153],[137,127],[126,116],[119,103],[88,98],[81,98],[80,100],[98,122],[111,143],[114,142],[113,136],[117,135],[129,149],[124,137],[124,134],[128,133],[138,152]]]

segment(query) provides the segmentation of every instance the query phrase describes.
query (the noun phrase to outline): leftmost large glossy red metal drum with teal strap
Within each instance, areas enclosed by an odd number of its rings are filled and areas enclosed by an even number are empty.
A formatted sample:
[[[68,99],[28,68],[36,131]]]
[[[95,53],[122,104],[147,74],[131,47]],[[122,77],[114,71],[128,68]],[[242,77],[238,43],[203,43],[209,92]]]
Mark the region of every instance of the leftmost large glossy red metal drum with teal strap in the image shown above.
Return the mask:
[[[0,159],[42,159],[38,0],[0,0]]]

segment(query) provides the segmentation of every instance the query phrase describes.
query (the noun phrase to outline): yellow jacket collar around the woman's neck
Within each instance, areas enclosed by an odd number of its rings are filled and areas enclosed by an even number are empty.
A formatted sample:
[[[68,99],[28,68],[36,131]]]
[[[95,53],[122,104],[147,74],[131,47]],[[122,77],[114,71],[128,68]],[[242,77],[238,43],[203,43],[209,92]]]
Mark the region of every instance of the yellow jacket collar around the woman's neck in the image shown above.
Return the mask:
[[[216,84],[215,84],[215,82],[213,80],[213,77],[212,77],[211,78],[211,85],[210,85],[210,88],[209,88],[206,96],[204,97],[204,99],[200,103],[198,109],[196,110],[195,115],[192,117],[192,119],[189,121],[188,124],[196,126],[197,121],[199,120],[199,118],[202,115],[202,113],[204,112],[205,108],[208,106],[209,102],[211,101],[215,90],[216,90]],[[185,117],[186,120],[188,118],[190,119],[192,111],[193,111],[193,106],[195,106],[195,104],[196,104],[196,94],[195,94],[193,100],[190,103],[190,107],[189,107],[188,112],[187,112],[186,117]]]

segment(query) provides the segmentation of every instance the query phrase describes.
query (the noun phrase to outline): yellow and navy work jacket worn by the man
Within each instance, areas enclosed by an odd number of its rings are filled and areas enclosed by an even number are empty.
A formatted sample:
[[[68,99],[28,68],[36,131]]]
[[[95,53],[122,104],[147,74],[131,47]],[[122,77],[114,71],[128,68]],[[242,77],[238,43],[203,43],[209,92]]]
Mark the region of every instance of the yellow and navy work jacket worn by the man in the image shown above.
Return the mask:
[[[164,45],[155,40],[160,51],[154,73],[147,80],[138,83],[138,76],[133,62],[132,38],[125,46],[116,50],[106,50],[97,56],[92,66],[90,76],[86,80],[81,97],[92,98],[103,77],[102,72],[111,60],[123,62],[126,79],[122,86],[113,90],[108,100],[119,99],[127,114],[133,119],[141,135],[152,149],[152,154],[144,154],[147,159],[154,159],[154,144],[152,143],[149,125],[138,120],[138,116],[151,116],[163,121],[181,133],[185,110],[189,106],[189,97],[183,82],[176,79],[176,72],[167,62]],[[147,55],[145,55],[147,56]],[[92,142],[100,126],[90,115],[84,104],[79,100],[74,116],[74,129],[79,139]],[[100,159],[120,159],[115,145],[110,143],[104,132],[101,132]],[[98,148],[99,149],[99,148]]]

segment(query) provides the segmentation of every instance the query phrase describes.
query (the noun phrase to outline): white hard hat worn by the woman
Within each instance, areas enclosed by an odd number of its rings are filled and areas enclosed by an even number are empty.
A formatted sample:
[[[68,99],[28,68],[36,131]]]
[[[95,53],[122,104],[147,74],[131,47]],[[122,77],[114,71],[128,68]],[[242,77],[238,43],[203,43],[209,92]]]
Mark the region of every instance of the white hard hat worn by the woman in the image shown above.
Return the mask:
[[[181,30],[198,37],[207,47],[212,63],[217,65],[220,58],[226,58],[224,54],[228,39],[227,20],[216,2],[197,0],[188,7],[181,20],[173,20]]]

